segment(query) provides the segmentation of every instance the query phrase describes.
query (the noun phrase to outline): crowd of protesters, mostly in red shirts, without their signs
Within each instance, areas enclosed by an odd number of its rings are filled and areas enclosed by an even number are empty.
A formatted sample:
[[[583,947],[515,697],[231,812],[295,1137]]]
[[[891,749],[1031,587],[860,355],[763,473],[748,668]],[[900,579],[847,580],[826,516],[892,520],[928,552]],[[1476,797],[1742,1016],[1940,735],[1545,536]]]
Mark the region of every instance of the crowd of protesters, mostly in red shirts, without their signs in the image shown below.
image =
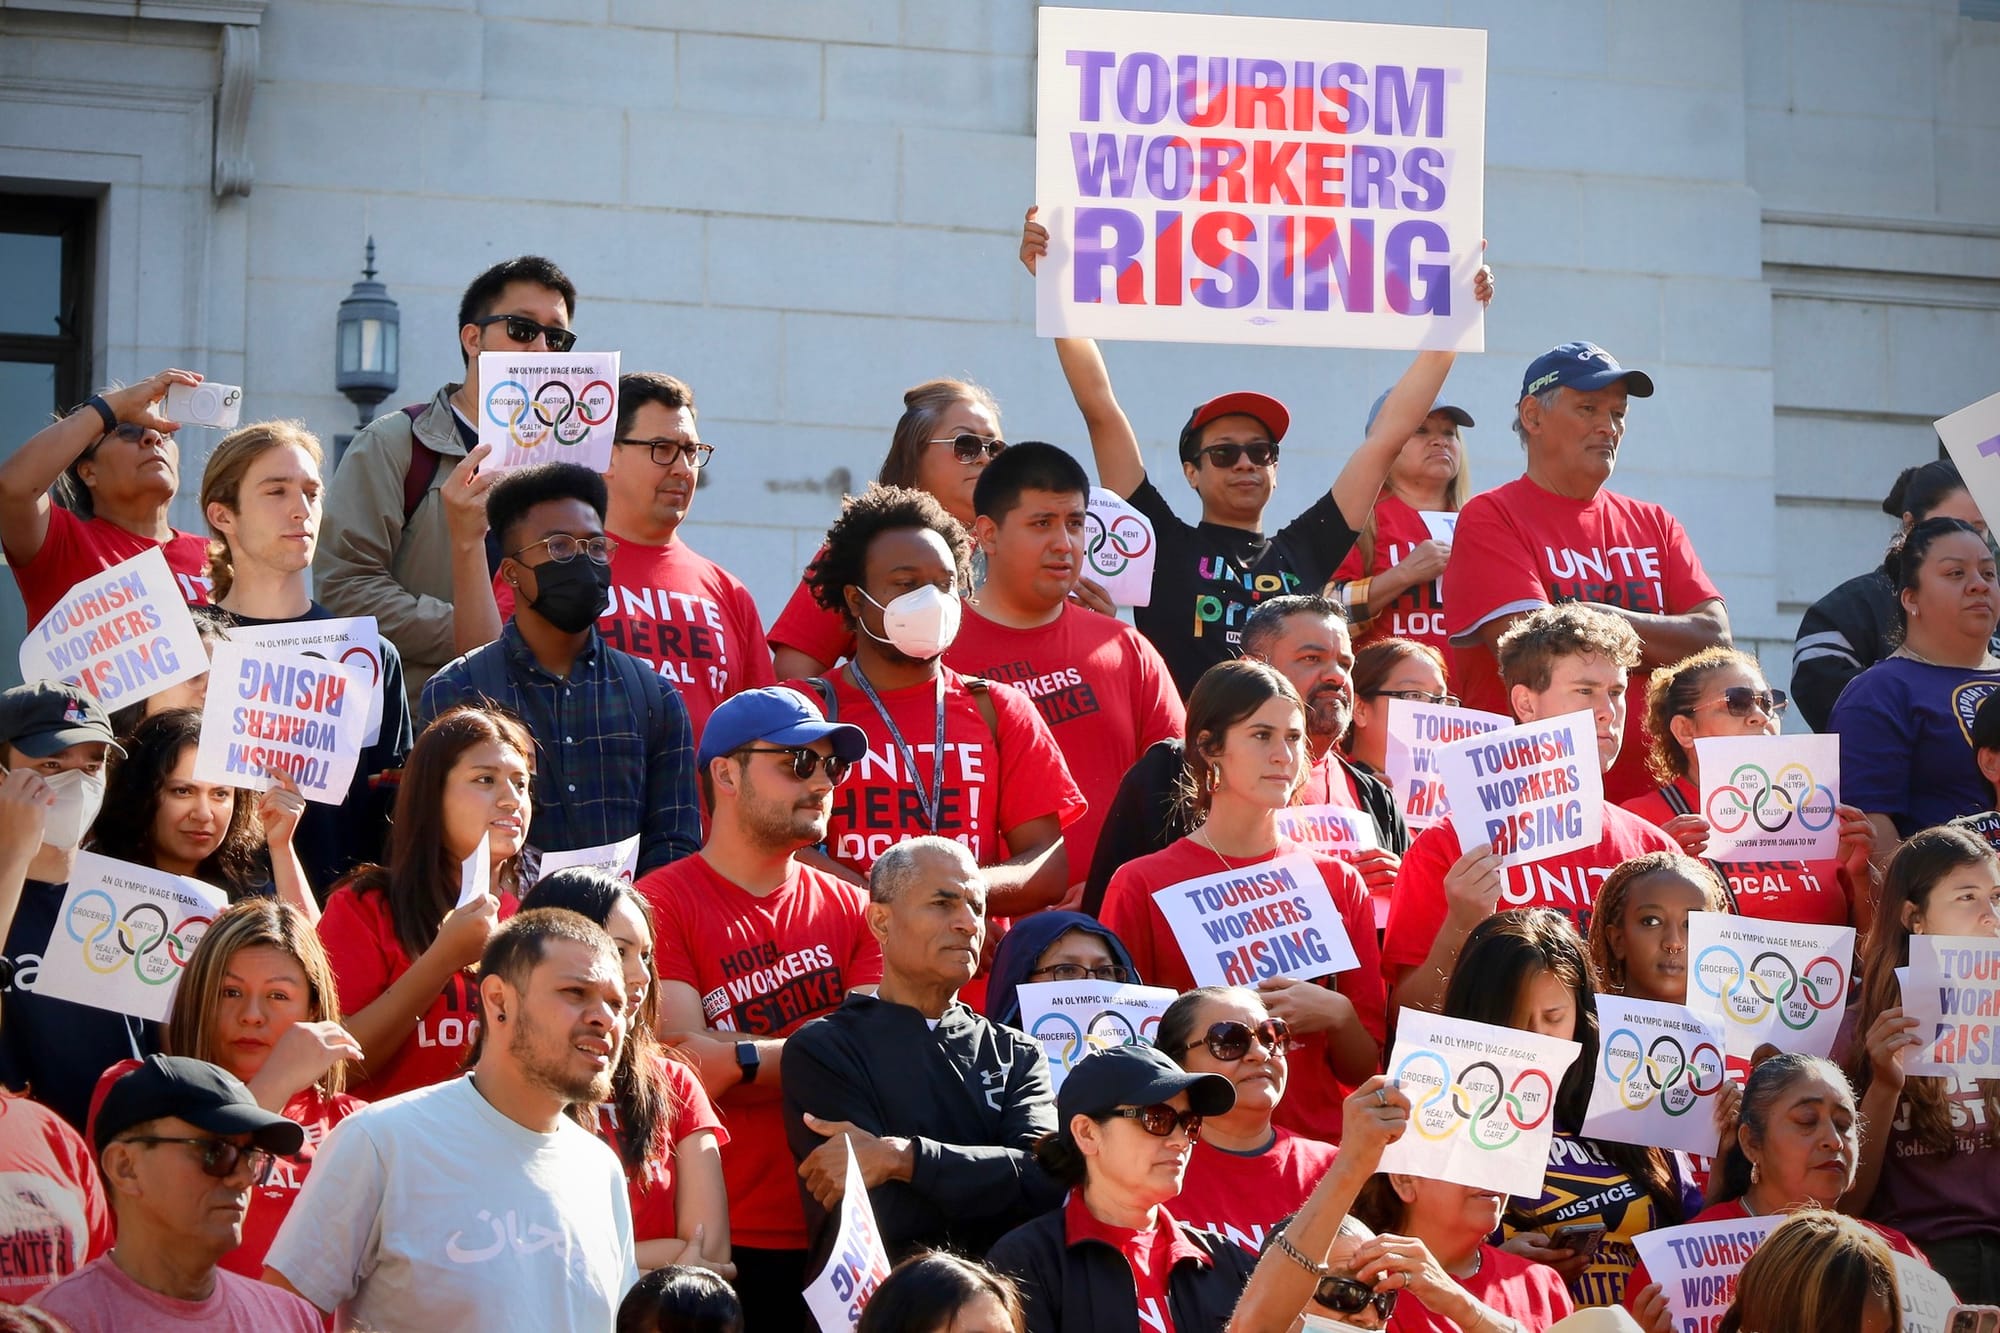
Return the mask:
[[[1046,240],[1030,210],[1030,270]],[[192,372],[0,462],[30,618],[158,548],[204,642],[374,616],[384,656],[338,803],[200,781],[200,679],[110,715],[0,693],[0,1327],[804,1329],[850,1169],[894,1263],[864,1333],[1672,1333],[1638,1237],[1772,1213],[1728,1329],[1900,1329],[1892,1251],[2000,1301],[2000,1081],[1906,1077],[1896,977],[1912,935],[2000,935],[2000,584],[1950,462],[1896,478],[1880,568],[1800,626],[1836,855],[1710,863],[1698,743],[1790,701],[1682,524],[1608,488],[1656,386],[1596,344],[1526,368],[1524,472],[1484,490],[1454,356],[1420,352],[1276,530],[1272,396],[1186,414],[1190,520],[1140,450],[1178,408],[1134,424],[1094,342],[1054,350],[1096,480],[918,384],[766,632],[680,532],[736,464],[686,382],[620,378],[602,474],[482,470],[478,354],[588,344],[576,316],[550,260],[486,270],[462,382],[330,476],[298,422],[232,430],[206,532],[168,522]],[[1086,576],[1092,484],[1156,536],[1130,622]],[[1412,839],[1390,701],[1588,715],[1602,837],[1526,867],[1450,817]],[[1292,843],[1298,807],[1370,845]],[[624,879],[542,873],[624,843]],[[38,989],[82,851],[228,899],[164,1023]],[[1198,985],[1156,893],[1280,857],[1356,963]],[[1686,1003],[1692,913],[1858,931],[1834,1057],[1734,1067],[1714,1161],[1584,1125],[1596,997]],[[1058,1091],[1044,981],[1180,997]],[[1538,1195],[1382,1169],[1406,1009],[1582,1049]]]

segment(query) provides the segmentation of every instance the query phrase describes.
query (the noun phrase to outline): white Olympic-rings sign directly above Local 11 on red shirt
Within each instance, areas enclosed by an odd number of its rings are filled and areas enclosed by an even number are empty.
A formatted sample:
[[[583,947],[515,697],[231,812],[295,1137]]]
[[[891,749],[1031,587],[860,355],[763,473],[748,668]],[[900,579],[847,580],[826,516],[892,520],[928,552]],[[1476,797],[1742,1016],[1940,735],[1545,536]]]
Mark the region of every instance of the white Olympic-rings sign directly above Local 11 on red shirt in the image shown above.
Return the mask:
[[[1702,737],[1710,861],[1832,861],[1840,849],[1840,737]]]

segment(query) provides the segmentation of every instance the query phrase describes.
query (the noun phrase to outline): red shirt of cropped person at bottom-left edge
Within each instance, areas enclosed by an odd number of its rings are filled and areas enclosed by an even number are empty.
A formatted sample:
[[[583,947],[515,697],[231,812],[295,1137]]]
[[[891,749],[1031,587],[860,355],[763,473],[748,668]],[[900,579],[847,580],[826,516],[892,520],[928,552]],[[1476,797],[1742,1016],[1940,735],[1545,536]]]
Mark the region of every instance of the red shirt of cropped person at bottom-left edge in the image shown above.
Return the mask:
[[[82,1135],[0,1091],[0,1305],[26,1305],[112,1247],[112,1215]]]

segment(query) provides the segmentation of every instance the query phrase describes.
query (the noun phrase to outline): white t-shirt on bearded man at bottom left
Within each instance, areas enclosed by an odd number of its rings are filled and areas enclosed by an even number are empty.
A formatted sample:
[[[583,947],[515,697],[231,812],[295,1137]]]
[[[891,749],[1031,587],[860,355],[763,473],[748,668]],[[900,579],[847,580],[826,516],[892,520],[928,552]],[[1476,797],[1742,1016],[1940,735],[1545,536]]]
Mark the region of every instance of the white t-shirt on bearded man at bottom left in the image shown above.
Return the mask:
[[[618,1155],[516,1125],[470,1077],[342,1121],[266,1263],[362,1329],[610,1329],[638,1281]]]

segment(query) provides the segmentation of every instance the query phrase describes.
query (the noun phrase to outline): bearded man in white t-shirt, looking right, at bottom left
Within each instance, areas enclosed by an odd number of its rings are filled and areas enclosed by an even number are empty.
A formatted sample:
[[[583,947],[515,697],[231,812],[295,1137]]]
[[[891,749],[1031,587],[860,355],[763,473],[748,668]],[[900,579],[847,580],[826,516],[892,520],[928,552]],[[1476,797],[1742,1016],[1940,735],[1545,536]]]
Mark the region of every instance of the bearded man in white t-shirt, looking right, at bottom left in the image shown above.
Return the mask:
[[[480,1001],[472,1071],[342,1121],[270,1247],[264,1281],[338,1327],[608,1329],[638,1281],[624,1167],[564,1115],[612,1093],[618,945],[520,913],[480,957]]]

